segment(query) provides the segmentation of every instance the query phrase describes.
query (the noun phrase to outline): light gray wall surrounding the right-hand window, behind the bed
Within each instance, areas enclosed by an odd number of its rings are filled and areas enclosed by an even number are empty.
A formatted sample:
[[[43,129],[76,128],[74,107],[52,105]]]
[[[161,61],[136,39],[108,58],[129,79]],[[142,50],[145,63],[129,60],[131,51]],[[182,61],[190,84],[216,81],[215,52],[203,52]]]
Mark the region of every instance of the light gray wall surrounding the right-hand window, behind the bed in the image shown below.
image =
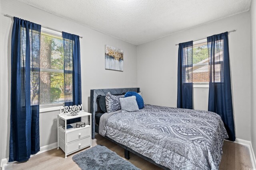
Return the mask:
[[[200,25],[137,46],[138,86],[145,102],[177,105],[177,43],[236,29],[229,34],[230,68],[236,137],[250,141],[250,12]],[[208,89],[194,89],[194,108],[208,108]]]

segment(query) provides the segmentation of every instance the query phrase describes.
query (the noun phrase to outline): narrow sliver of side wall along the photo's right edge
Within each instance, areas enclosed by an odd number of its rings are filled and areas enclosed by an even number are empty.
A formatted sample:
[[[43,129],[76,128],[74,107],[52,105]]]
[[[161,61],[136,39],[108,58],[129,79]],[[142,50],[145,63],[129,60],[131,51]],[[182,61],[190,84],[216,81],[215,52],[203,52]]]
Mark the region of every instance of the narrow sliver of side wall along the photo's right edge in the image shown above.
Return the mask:
[[[251,115],[251,133],[252,147],[256,156],[256,2],[252,0],[251,4],[251,49],[252,49],[252,115]]]

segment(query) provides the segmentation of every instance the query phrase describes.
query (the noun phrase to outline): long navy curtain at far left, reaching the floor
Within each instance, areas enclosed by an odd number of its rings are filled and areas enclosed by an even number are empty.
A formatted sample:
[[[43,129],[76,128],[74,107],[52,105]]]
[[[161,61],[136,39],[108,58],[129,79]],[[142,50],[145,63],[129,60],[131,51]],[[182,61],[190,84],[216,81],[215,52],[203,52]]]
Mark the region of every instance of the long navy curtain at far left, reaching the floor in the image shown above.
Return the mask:
[[[40,31],[41,25],[14,17],[9,162],[28,160],[40,150]]]

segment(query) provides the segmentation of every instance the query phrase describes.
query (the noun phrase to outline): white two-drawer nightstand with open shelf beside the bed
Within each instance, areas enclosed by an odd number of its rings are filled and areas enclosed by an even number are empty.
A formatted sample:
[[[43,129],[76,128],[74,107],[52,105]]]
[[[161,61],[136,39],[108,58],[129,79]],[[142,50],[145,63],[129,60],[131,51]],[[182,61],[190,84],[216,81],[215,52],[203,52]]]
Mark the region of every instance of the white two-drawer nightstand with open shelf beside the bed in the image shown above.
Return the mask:
[[[91,113],[85,111],[80,111],[79,114],[75,116],[70,115],[70,113],[58,114],[58,149],[60,147],[65,152],[65,158],[68,154],[80,149],[92,147],[91,115]],[[76,128],[76,123],[72,123],[70,125],[74,128],[67,129],[67,120],[78,117],[81,117],[81,121],[77,123],[85,123],[85,126]]]

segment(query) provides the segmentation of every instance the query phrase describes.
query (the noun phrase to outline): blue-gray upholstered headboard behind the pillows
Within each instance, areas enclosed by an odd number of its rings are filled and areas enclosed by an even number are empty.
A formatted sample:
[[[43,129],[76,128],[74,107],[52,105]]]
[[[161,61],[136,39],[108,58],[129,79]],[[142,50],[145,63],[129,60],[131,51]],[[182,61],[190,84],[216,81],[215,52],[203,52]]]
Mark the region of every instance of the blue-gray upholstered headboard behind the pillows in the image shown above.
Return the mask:
[[[140,92],[140,88],[107,88],[107,89],[92,89],[90,97],[90,113],[92,113],[92,139],[95,139],[95,113],[100,111],[96,100],[98,95],[106,96],[106,94],[122,94],[126,92]]]

